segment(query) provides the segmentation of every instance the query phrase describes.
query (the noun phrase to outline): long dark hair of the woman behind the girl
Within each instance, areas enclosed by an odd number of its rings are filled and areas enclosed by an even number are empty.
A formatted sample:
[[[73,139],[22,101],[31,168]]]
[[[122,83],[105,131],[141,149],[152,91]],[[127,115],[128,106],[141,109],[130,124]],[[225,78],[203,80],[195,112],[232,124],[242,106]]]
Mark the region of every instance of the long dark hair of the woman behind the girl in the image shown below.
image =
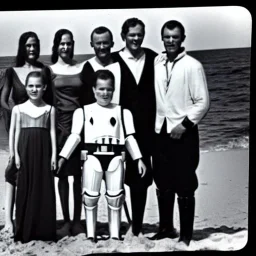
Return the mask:
[[[35,38],[35,40],[36,40],[37,47],[38,47],[36,60],[39,58],[40,40],[39,40],[37,34],[32,31],[25,32],[20,36],[20,39],[19,39],[19,46],[18,46],[18,52],[17,52],[17,56],[16,56],[16,60],[15,60],[15,67],[22,67],[25,64],[26,58],[27,58],[26,42],[28,41],[28,39],[30,37]],[[35,66],[43,67],[43,64],[40,62],[36,62]]]

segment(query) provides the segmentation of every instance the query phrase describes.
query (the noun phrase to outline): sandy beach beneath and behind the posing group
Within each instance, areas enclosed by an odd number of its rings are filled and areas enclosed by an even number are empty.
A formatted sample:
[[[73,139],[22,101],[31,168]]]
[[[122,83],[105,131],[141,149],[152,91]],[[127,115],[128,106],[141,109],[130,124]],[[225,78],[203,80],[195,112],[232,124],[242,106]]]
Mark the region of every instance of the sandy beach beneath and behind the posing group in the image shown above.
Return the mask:
[[[0,152],[0,229],[4,225],[4,170],[8,151]],[[144,235],[133,237],[130,233],[124,211],[122,212],[123,241],[106,240],[108,235],[107,205],[104,196],[99,201],[97,235],[98,243],[86,240],[85,234],[64,237],[55,242],[31,241],[27,244],[14,243],[12,239],[0,237],[0,255],[85,255],[113,252],[165,252],[179,250],[235,251],[244,248],[248,239],[248,185],[249,151],[232,150],[225,152],[201,153],[197,169],[199,188],[196,191],[196,210],[193,240],[184,248],[178,239],[150,241],[158,227],[158,208],[155,185],[148,190],[144,216]],[[69,179],[72,187],[72,178]],[[126,201],[130,210],[129,188],[126,187]],[[57,190],[56,190],[57,191]],[[72,191],[72,188],[70,189]],[[102,184],[104,195],[104,183]],[[62,219],[58,194],[57,219]],[[72,195],[70,195],[72,213]],[[72,215],[72,214],[71,214]],[[84,224],[84,210],[82,211]],[[174,224],[179,230],[177,202],[174,209]]]

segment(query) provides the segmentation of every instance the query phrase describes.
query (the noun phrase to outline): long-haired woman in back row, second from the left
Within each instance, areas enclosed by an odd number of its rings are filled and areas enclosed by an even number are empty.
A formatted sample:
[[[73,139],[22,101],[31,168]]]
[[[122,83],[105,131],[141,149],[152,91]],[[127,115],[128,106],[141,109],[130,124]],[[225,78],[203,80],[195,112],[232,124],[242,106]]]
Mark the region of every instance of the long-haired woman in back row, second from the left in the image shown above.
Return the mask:
[[[72,116],[74,111],[85,105],[83,95],[84,87],[81,80],[81,71],[84,63],[77,63],[74,59],[74,38],[71,31],[60,29],[55,33],[51,61],[49,66],[52,73],[52,84],[56,96],[57,117],[57,148],[61,151],[71,133]],[[80,223],[82,196],[81,196],[81,165],[80,147],[73,152],[60,173],[58,190],[64,217],[64,225],[57,230],[58,237],[84,233]],[[68,177],[73,176],[74,214],[73,222],[69,214],[69,182]]]

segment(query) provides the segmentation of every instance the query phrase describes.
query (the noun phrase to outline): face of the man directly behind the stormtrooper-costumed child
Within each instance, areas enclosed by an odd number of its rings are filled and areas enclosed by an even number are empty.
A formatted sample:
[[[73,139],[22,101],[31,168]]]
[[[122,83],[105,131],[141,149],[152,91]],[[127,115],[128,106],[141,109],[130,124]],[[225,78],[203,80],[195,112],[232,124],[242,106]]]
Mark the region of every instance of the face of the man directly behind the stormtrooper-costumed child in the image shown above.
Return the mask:
[[[105,32],[103,34],[94,33],[92,36],[91,46],[94,49],[95,55],[100,60],[104,60],[110,57],[113,44],[114,43],[111,40],[109,32]]]

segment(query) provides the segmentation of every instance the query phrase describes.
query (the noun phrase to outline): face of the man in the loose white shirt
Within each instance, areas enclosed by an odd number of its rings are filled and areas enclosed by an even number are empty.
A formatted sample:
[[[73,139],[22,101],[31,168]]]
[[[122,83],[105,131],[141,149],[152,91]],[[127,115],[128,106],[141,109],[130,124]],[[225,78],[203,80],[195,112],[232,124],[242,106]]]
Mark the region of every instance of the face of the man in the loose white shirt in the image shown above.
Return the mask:
[[[181,48],[181,44],[184,41],[184,38],[182,37],[179,28],[164,28],[162,41],[164,42],[164,47],[167,54],[177,55]]]

